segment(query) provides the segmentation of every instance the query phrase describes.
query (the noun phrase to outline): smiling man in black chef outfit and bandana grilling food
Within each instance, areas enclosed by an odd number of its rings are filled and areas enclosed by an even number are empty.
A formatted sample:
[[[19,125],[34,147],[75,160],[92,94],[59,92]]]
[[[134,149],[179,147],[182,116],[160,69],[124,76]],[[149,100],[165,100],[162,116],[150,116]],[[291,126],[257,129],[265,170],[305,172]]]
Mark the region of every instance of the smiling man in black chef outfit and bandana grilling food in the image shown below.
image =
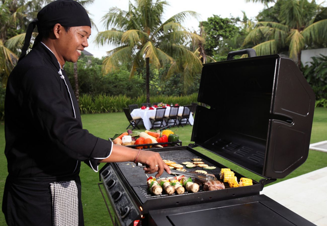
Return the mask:
[[[9,175],[2,210],[8,225],[83,225],[80,161],[95,172],[99,162],[134,161],[146,173],[169,167],[158,153],[139,151],[82,129],[73,89],[63,70],[88,46],[91,23],[73,0],[45,6],[28,27],[5,99],[5,154]],[[32,31],[39,35],[25,56]]]

